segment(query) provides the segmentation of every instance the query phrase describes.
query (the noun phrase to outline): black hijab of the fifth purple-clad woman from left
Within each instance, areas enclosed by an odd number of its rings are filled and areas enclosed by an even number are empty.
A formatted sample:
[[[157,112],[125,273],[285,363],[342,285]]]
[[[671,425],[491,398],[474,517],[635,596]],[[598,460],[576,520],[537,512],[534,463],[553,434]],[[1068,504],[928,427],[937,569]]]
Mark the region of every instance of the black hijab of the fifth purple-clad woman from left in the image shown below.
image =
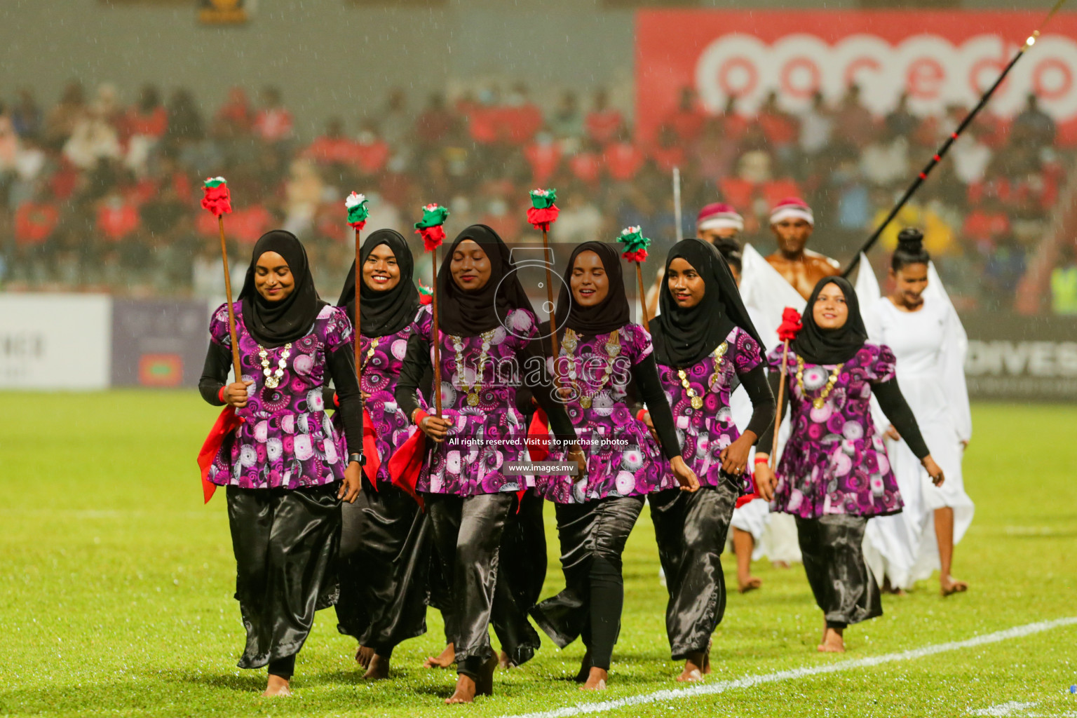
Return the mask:
[[[666,277],[673,259],[684,259],[703,278],[703,298],[695,307],[682,309],[673,299],[669,282],[658,288],[661,312],[651,322],[655,358],[660,364],[679,369],[702,361],[713,352],[735,326],[739,326],[765,352],[758,332],[744,308],[740,291],[722,253],[701,239],[684,239],[674,244],[666,256]]]

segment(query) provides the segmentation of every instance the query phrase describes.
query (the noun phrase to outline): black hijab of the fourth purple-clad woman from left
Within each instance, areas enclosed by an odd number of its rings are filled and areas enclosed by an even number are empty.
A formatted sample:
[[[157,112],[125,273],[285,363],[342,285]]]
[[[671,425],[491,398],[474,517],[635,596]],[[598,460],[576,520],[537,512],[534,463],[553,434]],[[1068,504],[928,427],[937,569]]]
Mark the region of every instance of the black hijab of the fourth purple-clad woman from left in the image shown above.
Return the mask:
[[[572,269],[576,257],[584,252],[595,252],[599,255],[606,277],[610,278],[610,291],[605,298],[593,307],[582,307],[572,300]],[[557,296],[557,333],[564,336],[565,329],[576,334],[595,336],[616,332],[631,321],[629,315],[628,296],[625,294],[625,277],[621,272],[620,254],[613,244],[606,242],[584,242],[577,244],[569,256],[569,266],[562,276],[564,280]]]

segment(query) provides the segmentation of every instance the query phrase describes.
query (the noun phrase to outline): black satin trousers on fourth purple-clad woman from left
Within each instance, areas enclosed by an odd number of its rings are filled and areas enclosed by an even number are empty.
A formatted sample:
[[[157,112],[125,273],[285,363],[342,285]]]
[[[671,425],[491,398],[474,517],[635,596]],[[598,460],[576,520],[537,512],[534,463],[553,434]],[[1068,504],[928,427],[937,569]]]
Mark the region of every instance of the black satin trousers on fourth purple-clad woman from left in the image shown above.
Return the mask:
[[[610,670],[625,605],[621,554],[643,496],[557,504],[564,590],[531,609],[531,616],[559,647],[577,637],[590,650],[591,666]]]

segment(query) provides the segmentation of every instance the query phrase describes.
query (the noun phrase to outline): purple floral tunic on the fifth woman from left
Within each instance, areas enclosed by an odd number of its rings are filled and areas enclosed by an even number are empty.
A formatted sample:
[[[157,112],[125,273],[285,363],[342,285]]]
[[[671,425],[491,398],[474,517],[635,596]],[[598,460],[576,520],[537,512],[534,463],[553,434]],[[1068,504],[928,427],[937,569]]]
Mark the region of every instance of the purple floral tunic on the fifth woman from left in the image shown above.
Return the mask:
[[[702,400],[702,406],[698,409],[693,407],[691,396],[684,388],[677,370],[658,365],[658,377],[673,410],[681,454],[699,477],[701,487],[716,487],[724,480],[721,453],[740,438],[740,431],[733,423],[729,408],[729,395],[736,388],[733,380],[737,375],[745,375],[760,364],[763,357],[759,344],[747,332],[735,326],[715,352],[684,371],[691,393],[699,397],[697,403]],[[747,475],[744,476],[743,491],[754,491]]]

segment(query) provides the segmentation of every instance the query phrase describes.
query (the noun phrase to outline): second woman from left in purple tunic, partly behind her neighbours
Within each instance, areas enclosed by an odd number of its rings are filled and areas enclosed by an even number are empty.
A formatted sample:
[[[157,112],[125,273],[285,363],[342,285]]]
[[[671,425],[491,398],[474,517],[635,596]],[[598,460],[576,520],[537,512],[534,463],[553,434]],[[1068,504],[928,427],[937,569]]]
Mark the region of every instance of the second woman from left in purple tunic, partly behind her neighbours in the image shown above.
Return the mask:
[[[368,476],[373,464],[367,464],[359,498],[341,508],[337,630],[359,642],[355,660],[366,668],[364,678],[387,678],[393,648],[426,630],[430,530],[419,506],[389,477],[389,457],[415,431],[394,392],[416,330],[419,292],[411,279],[411,250],[398,231],[372,233],[360,259],[359,375],[380,465],[375,484]],[[355,316],[354,264],[337,305]],[[332,402],[332,390],[326,394]]]

